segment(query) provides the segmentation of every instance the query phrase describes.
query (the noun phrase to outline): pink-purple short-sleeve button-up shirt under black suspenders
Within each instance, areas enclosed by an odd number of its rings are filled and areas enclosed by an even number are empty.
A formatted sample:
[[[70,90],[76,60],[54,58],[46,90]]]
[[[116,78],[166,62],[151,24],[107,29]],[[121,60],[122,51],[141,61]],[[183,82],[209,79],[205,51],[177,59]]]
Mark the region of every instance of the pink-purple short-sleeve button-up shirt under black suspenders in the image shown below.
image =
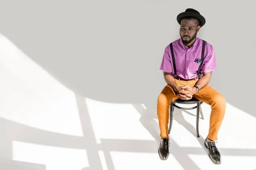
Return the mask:
[[[195,43],[191,48],[188,48],[183,44],[180,38],[172,42],[172,46],[175,57],[177,77],[181,79],[195,79],[200,65],[200,63],[197,63],[196,61],[201,59],[203,40],[196,37]],[[217,69],[214,49],[212,45],[206,41],[204,62],[201,69],[202,70],[199,73],[198,78],[202,77],[203,72],[207,73]],[[170,45],[165,48],[160,70],[167,73],[172,73],[172,76],[175,77]]]

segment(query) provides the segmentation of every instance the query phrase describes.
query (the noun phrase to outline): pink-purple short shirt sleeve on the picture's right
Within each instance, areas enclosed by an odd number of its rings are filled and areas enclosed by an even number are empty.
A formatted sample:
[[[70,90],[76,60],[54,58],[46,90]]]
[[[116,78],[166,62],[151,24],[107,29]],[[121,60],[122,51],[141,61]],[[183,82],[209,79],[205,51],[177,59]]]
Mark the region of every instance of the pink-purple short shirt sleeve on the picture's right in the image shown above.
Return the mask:
[[[215,58],[215,51],[214,51],[214,48],[212,47],[209,56],[207,56],[204,59],[204,65],[202,66],[202,71],[204,73],[208,73],[216,69],[217,69],[217,63]]]

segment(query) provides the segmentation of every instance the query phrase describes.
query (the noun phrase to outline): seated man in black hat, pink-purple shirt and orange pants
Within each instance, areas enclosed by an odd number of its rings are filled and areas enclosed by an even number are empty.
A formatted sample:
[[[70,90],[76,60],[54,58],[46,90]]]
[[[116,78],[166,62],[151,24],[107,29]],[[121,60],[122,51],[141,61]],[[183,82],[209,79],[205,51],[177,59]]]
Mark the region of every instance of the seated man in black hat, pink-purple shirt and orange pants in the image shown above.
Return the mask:
[[[220,164],[221,155],[215,141],[224,118],[226,100],[208,85],[212,71],[217,69],[215,52],[212,45],[196,37],[206,21],[198,11],[188,8],[177,16],[177,22],[180,24],[180,39],[165,48],[160,67],[167,85],[157,99],[161,136],[158,153],[163,160],[169,156],[169,105],[176,99],[193,97],[211,106],[209,133],[204,144],[210,159]]]

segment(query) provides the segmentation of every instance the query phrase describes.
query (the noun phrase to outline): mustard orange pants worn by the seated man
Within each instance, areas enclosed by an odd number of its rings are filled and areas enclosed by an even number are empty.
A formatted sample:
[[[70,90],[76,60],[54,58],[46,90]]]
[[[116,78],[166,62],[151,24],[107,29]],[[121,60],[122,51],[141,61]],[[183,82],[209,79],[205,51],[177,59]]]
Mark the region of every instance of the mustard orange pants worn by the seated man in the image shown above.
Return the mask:
[[[189,85],[193,87],[198,79],[192,79],[188,81],[175,79],[175,81],[179,86]],[[178,94],[174,92],[172,87],[166,85],[157,99],[157,116],[160,127],[160,136],[162,138],[166,138],[169,135],[169,106],[178,98]],[[205,102],[211,106],[212,111],[209,120],[208,138],[213,141],[218,140],[218,130],[221,127],[221,122],[224,118],[226,110],[226,99],[209,85],[206,85],[198,93],[194,94],[193,98]]]

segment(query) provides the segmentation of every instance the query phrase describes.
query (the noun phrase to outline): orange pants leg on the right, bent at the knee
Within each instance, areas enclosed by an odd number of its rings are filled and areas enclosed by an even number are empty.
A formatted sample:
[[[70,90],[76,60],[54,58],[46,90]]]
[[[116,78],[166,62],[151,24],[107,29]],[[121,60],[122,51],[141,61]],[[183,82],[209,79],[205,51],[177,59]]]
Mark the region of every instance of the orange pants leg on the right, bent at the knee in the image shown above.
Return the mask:
[[[213,141],[218,140],[218,130],[221,127],[226,110],[226,99],[209,85],[206,85],[193,97],[211,106],[208,138]]]

